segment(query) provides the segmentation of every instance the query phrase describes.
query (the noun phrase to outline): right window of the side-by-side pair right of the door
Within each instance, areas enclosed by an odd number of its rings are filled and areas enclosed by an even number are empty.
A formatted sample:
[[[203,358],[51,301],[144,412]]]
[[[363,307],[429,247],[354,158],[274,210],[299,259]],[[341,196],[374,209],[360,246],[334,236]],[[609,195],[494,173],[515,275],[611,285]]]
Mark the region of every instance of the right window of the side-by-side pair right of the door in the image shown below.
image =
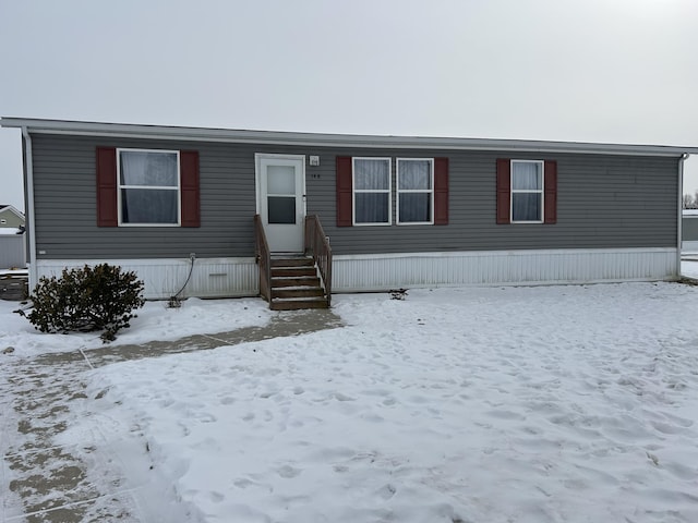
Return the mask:
[[[434,159],[397,159],[397,222],[434,223]]]

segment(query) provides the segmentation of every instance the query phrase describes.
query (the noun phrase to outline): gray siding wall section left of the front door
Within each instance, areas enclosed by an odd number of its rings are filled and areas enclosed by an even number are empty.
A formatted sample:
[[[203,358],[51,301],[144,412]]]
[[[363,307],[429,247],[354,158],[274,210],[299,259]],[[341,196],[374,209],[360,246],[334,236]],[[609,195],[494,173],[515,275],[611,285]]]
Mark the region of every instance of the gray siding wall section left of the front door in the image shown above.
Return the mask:
[[[36,135],[37,259],[253,256],[254,157],[225,144]],[[97,227],[97,146],[196,149],[201,228]]]

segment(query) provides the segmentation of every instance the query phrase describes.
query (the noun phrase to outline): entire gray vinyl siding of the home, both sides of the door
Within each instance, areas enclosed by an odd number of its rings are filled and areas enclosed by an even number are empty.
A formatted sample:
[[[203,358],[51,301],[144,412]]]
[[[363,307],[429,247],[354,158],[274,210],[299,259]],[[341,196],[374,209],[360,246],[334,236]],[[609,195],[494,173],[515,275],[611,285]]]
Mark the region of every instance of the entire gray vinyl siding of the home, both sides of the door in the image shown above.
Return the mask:
[[[198,150],[200,228],[99,228],[95,148]],[[318,155],[305,167],[306,211],[321,217],[333,252],[345,254],[525,248],[675,247],[677,159],[581,154],[512,154],[256,146],[36,135],[33,138],[38,258],[252,256],[254,154]],[[336,227],[337,156],[449,158],[448,226]],[[496,158],[557,161],[557,223],[496,224]]]

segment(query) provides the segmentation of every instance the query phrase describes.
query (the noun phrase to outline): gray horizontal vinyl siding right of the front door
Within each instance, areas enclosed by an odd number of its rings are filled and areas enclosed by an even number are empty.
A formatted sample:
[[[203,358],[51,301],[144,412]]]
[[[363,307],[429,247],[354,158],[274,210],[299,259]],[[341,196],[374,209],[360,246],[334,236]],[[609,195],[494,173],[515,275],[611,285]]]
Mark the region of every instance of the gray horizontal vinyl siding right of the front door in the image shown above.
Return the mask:
[[[371,153],[369,156],[393,159],[448,157],[448,226],[395,224],[394,190],[393,226],[336,228],[334,210],[329,215],[333,220],[323,220],[335,253],[675,247],[677,244],[676,159],[510,151]],[[496,224],[497,158],[557,160],[557,223]],[[327,158],[325,166],[332,160]],[[328,169],[334,172],[334,166]],[[327,171],[326,177],[330,178],[332,172]]]

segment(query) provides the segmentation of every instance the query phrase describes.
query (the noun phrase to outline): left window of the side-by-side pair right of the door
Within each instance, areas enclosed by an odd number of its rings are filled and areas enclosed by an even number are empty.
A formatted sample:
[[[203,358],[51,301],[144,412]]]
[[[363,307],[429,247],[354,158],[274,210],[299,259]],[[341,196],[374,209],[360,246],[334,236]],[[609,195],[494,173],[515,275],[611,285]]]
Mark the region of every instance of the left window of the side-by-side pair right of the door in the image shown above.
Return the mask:
[[[389,226],[390,158],[352,158],[353,224]]]

